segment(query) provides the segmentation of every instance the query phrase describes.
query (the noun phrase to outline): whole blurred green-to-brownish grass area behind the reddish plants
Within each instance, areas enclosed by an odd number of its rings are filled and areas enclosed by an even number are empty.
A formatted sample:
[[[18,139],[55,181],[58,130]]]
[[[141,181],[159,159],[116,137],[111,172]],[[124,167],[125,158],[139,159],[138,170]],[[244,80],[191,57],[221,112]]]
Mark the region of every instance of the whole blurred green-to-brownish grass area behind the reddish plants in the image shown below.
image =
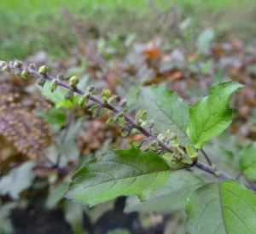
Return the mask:
[[[177,0],[183,18],[192,16],[193,31],[212,26],[219,35],[249,38],[255,31],[256,0]],[[154,0],[163,11],[170,0]],[[147,40],[163,31],[146,0],[2,0],[0,1],[0,58],[23,59],[39,49],[53,58],[75,46],[71,27],[59,9],[63,4],[75,17],[84,34],[94,27],[104,35],[109,26],[121,35],[136,32]],[[170,34],[170,33],[169,33]],[[165,34],[171,38],[171,35]],[[172,34],[172,32],[171,32]]]

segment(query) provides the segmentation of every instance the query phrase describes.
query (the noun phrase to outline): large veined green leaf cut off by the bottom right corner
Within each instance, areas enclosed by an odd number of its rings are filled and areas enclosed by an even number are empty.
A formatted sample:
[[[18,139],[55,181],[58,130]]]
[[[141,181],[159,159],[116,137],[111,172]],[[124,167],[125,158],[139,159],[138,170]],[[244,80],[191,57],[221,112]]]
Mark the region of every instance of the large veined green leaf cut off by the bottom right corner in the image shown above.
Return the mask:
[[[186,208],[189,234],[255,233],[256,197],[235,180],[203,185]]]

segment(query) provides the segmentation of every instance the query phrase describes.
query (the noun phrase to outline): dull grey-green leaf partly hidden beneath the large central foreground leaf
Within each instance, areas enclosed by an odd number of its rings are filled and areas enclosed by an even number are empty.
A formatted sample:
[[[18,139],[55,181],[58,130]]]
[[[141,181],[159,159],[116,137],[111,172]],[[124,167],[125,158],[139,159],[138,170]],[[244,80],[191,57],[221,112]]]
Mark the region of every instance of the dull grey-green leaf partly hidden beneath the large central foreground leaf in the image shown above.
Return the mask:
[[[204,182],[189,171],[174,171],[165,185],[154,191],[148,201],[142,203],[137,197],[128,197],[125,212],[176,210],[184,208],[193,191]]]

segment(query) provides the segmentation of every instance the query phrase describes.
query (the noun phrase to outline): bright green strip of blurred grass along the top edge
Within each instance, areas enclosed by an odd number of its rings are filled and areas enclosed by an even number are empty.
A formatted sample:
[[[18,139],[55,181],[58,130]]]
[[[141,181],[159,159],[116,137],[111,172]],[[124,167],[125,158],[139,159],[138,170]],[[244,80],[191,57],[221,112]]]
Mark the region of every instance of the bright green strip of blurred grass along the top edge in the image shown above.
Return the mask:
[[[157,0],[154,3],[161,9],[169,8],[170,3],[176,3],[182,7],[195,6],[210,8],[212,10],[217,10],[227,6],[241,5],[246,3],[255,3],[254,0]],[[73,9],[74,11],[80,11],[80,9],[92,9],[93,6],[103,5],[108,9],[145,9],[148,8],[147,0],[79,0],[79,1],[69,1],[69,0],[2,0],[0,3],[1,9],[6,10],[55,10],[60,4],[65,5],[68,9]]]

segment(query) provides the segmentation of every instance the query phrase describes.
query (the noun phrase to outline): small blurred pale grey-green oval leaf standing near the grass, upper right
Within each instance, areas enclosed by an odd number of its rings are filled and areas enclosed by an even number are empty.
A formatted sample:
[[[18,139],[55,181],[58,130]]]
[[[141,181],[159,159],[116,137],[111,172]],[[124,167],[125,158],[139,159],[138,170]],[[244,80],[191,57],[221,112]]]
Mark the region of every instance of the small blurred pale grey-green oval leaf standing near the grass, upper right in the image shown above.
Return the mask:
[[[215,37],[214,31],[211,28],[207,28],[201,32],[196,41],[196,48],[199,52],[204,52],[206,49],[210,47],[212,40]]]

